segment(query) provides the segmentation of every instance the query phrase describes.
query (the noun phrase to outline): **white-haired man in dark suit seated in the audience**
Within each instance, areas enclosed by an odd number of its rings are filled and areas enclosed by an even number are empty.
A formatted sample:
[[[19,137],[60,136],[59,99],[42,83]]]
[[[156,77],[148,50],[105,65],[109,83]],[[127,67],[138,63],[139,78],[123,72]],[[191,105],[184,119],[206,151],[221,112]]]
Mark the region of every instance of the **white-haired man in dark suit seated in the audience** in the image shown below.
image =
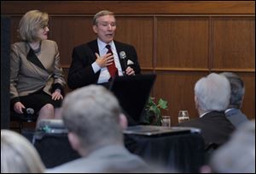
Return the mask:
[[[206,149],[227,142],[235,127],[225,117],[224,110],[230,103],[230,82],[224,76],[212,73],[195,83],[195,107],[200,118],[180,123],[201,129]]]

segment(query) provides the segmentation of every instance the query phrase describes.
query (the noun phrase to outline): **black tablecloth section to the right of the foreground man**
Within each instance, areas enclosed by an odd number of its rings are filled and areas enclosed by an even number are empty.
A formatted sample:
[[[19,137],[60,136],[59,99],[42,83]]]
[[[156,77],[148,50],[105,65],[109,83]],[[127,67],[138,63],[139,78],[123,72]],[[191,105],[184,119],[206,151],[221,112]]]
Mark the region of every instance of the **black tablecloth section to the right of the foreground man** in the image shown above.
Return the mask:
[[[125,146],[147,162],[170,171],[196,172],[204,162],[204,141],[197,133],[155,137],[125,135]]]

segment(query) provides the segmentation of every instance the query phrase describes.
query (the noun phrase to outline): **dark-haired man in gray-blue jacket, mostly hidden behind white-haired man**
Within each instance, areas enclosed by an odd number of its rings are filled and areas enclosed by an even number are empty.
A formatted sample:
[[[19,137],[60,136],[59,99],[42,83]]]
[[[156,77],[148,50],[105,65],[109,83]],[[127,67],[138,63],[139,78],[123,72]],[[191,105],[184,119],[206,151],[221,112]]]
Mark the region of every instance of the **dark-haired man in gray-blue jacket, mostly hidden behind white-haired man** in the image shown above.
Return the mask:
[[[224,72],[221,75],[227,77],[231,87],[230,105],[225,110],[225,115],[237,128],[241,123],[248,121],[247,116],[241,112],[241,104],[245,93],[244,82],[232,72]]]

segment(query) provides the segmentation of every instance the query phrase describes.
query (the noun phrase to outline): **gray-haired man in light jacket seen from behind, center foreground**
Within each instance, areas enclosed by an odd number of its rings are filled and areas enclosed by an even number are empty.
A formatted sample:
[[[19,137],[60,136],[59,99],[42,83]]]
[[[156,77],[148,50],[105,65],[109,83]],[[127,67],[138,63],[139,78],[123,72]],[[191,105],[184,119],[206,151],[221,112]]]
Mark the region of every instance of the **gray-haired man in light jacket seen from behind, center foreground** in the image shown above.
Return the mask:
[[[49,172],[146,171],[148,166],[124,146],[121,108],[113,93],[90,85],[68,93],[63,101],[64,125],[73,149],[82,158]]]

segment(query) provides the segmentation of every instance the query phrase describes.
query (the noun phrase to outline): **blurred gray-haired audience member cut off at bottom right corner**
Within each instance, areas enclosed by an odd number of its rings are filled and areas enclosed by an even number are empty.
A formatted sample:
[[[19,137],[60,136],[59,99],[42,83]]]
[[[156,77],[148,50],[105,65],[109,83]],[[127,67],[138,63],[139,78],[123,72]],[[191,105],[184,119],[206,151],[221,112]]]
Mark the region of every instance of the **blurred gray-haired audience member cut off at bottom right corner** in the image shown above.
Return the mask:
[[[218,173],[255,173],[255,120],[241,124],[214,152],[210,168]]]

